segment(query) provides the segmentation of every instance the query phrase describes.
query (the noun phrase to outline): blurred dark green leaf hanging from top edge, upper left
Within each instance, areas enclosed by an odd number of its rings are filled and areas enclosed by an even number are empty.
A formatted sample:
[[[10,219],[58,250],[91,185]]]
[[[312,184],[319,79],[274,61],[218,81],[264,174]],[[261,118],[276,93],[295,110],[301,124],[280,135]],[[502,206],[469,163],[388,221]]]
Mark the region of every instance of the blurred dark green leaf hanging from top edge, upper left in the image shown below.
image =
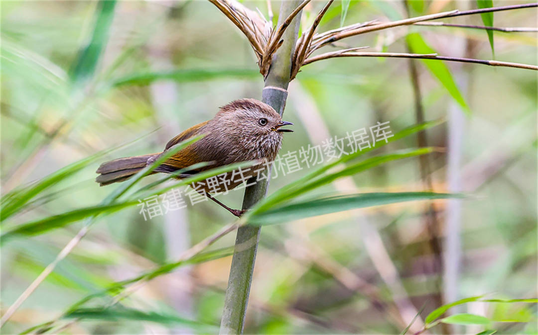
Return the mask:
[[[115,6],[116,0],[101,0],[97,3],[93,35],[88,45],[80,51],[69,73],[70,80],[75,85],[86,82],[94,75],[102,51],[107,45]]]

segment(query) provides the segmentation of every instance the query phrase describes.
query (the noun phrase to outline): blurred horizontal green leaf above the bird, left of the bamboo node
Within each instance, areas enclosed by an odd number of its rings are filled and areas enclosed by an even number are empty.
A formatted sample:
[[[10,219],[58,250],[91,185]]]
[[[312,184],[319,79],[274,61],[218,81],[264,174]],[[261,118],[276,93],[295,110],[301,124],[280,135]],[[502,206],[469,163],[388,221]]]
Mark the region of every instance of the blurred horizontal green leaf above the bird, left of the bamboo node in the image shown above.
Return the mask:
[[[260,73],[254,69],[197,69],[175,70],[166,72],[147,72],[119,78],[113,86],[147,85],[155,81],[173,80],[175,82],[208,81],[213,79],[259,79]]]

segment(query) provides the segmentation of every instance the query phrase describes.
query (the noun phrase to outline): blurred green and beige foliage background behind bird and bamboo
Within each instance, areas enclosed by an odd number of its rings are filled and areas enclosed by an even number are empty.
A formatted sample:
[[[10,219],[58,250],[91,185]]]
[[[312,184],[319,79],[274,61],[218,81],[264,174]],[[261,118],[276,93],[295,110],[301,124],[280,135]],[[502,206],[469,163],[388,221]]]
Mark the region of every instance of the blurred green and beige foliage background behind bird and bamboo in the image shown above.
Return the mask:
[[[516,3],[523,2],[494,1],[495,6]],[[267,15],[265,1],[243,4]],[[307,5],[302,30],[323,5]],[[412,14],[475,6],[465,1],[420,1],[412,6]],[[4,229],[96,205],[112,190],[94,181],[102,161],[160,151],[182,130],[212,118],[218,106],[243,97],[261,98],[263,78],[252,49],[208,1],[2,1],[1,7],[2,194],[98,151],[119,147],[40,194],[10,217]],[[407,17],[401,2],[335,2],[318,31],[339,27],[343,7],[344,24]],[[278,8],[273,2],[275,13]],[[535,8],[499,12],[494,24],[536,27],[536,15]],[[483,24],[477,15],[446,21]],[[440,55],[493,58],[482,30],[400,27],[344,42],[406,52],[408,32],[419,32]],[[536,64],[536,42],[535,32],[495,32],[495,59]],[[422,62],[415,65],[424,118],[449,120],[427,130],[428,145],[445,148],[427,156],[437,192],[452,191],[447,184],[451,172],[446,148],[454,135],[450,122],[461,132],[456,170],[461,191],[471,196],[459,202],[461,216],[456,216],[462,250],[456,292],[447,293],[447,278],[443,280],[439,266],[447,256],[447,201],[436,201],[433,208],[413,202],[318,216],[263,228],[245,333],[401,332],[401,324],[387,318],[379,301],[365,294],[369,290],[412,317],[422,307],[425,316],[450,302],[447,294],[536,297],[536,72],[447,63],[470,111],[457,117],[462,111],[443,84]],[[413,125],[413,94],[405,59],[346,58],[307,65],[289,88],[285,120],[295,123],[295,132],[285,136],[281,154],[321,144],[329,136],[343,137],[377,121],[390,121],[393,132]],[[416,137],[410,136],[379,150],[416,146]],[[410,158],[315,192],[420,191],[427,189],[420,171],[419,158]],[[268,192],[307,172],[279,176]],[[152,178],[156,177],[146,183]],[[223,200],[237,208],[242,195],[232,191]],[[425,214],[430,209],[436,213],[433,228]],[[174,261],[233,221],[209,202],[148,221],[138,212],[130,207],[99,219],[2,331],[17,333],[57,318],[80,298]],[[74,223],[2,246],[3,312],[80,227],[80,222]],[[229,234],[209,250],[229,247],[234,238],[235,233]],[[122,302],[172,321],[141,321],[112,313],[114,317],[73,323],[62,332],[216,332],[230,262],[231,257],[221,257],[180,267]],[[460,308],[493,321],[515,321],[495,324],[499,333],[537,331],[535,304],[475,302]],[[470,325],[459,332],[481,330]]]

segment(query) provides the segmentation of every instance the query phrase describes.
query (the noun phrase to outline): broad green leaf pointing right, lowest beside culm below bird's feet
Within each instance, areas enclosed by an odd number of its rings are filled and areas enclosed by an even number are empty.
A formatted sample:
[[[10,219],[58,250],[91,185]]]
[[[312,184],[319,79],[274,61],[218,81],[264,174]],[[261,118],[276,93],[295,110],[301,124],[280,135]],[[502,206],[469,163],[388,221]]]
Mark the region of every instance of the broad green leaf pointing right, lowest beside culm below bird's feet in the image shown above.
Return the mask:
[[[290,205],[272,208],[262,213],[252,214],[248,222],[252,224],[276,224],[305,217],[343,212],[355,208],[387,205],[389,203],[462,198],[462,195],[433,192],[400,192],[400,193],[362,193],[329,196],[314,200],[291,203]]]

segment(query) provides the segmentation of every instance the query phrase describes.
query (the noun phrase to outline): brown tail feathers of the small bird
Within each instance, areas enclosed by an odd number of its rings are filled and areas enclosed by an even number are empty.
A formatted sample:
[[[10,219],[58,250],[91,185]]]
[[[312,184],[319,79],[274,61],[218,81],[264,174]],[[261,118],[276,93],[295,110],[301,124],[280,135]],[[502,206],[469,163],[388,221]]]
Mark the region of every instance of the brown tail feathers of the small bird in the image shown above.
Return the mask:
[[[144,169],[147,165],[147,160],[155,155],[158,154],[124,157],[103,163],[96,171],[99,176],[95,181],[99,183],[99,186],[104,186],[129,179],[135,173]]]

